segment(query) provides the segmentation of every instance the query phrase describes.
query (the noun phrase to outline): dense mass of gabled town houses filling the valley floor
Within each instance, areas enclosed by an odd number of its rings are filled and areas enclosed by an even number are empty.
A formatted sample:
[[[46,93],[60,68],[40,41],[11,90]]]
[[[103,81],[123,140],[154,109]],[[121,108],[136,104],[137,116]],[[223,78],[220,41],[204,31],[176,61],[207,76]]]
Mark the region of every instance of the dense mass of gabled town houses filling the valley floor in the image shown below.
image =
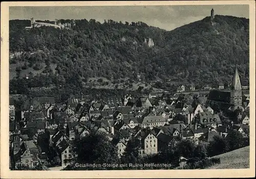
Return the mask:
[[[244,96],[244,101],[248,103],[248,96]],[[237,124],[223,126],[214,107],[206,102],[205,93],[169,97],[152,93],[137,99],[131,95],[102,100],[69,99],[65,104],[55,103],[52,97],[41,97],[26,100],[20,113],[17,110],[15,113],[10,100],[11,164],[34,167],[39,161],[47,161],[37,141],[46,132],[50,133],[49,144],[62,166],[73,157],[72,141],[92,131],[102,132],[115,141],[120,157],[131,139],[139,139],[139,152],[144,156],[157,153],[172,140],[190,139],[207,144],[214,136],[227,137],[231,130],[247,135],[248,115],[241,113]]]

